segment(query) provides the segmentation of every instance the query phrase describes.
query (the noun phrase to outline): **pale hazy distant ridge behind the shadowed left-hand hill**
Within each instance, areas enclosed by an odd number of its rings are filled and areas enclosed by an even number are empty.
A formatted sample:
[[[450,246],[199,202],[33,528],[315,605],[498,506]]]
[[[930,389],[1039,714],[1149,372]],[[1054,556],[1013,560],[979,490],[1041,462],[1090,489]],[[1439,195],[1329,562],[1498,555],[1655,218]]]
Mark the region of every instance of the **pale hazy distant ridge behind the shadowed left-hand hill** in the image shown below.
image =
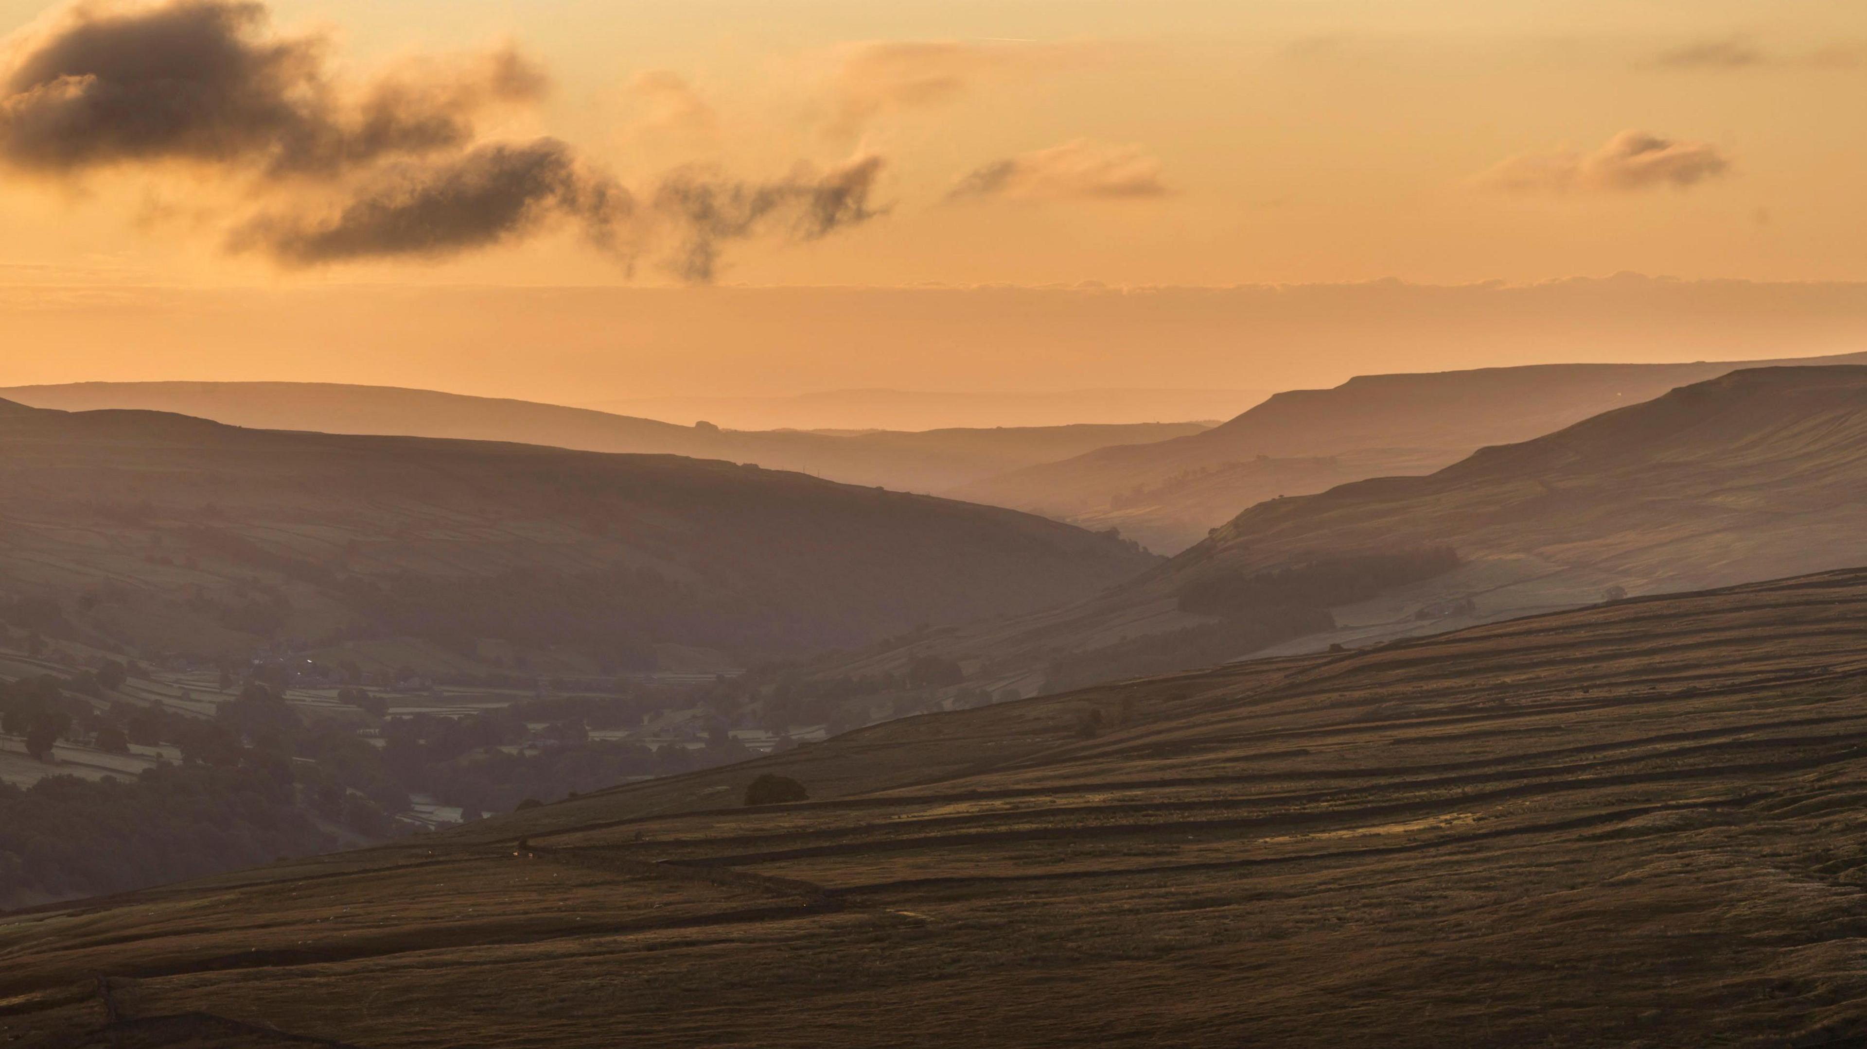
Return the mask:
[[[1206,427],[1197,422],[1150,422],[848,435],[737,431],[536,401],[336,383],[73,383],[0,388],[0,398],[63,411],[166,411],[261,429],[515,441],[583,452],[726,459],[922,493],[1105,444],[1165,441]]]

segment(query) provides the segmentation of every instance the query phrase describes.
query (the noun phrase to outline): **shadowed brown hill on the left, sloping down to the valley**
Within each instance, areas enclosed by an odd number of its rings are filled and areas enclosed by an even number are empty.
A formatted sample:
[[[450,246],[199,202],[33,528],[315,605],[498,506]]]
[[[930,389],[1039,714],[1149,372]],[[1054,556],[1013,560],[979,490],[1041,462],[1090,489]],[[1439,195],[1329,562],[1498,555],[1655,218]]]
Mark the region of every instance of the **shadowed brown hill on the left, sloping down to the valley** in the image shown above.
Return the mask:
[[[0,403],[0,618],[133,653],[652,668],[1083,597],[1152,564],[1042,517],[674,455]],[[420,646],[400,646],[418,640]],[[416,666],[420,668],[420,666]]]

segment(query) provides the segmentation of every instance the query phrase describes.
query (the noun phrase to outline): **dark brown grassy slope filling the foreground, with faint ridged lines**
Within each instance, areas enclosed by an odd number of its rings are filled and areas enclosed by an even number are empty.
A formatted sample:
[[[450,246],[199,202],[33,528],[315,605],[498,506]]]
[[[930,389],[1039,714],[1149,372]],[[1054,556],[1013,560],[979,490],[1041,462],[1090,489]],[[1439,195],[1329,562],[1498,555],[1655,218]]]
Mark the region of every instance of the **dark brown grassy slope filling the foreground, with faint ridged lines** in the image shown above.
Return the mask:
[[[1854,1045],[1863,631],[1845,571],[907,719],[0,918],[0,1034]]]

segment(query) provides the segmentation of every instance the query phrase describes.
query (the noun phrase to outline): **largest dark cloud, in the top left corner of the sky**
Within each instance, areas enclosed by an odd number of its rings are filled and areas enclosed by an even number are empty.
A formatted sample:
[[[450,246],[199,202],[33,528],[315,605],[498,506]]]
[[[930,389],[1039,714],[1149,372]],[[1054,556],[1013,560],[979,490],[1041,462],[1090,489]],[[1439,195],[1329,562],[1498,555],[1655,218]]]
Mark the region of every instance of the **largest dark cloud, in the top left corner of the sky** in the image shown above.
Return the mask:
[[[278,37],[246,0],[80,6],[21,41],[0,75],[0,162],[43,174],[190,161],[330,175],[456,149],[478,110],[536,97],[519,56],[428,62],[362,88],[325,73],[325,39]]]

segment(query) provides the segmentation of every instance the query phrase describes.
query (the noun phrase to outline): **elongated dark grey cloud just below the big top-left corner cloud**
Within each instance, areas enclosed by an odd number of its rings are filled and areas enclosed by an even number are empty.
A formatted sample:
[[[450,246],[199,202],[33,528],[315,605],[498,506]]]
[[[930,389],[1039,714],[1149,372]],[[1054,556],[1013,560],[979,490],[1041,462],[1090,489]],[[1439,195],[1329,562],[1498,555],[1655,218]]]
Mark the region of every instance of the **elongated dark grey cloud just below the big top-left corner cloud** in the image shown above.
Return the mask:
[[[334,215],[263,215],[232,239],[288,265],[362,258],[442,258],[577,222],[609,250],[633,215],[620,185],[586,172],[568,146],[482,146],[441,164],[386,174]]]

